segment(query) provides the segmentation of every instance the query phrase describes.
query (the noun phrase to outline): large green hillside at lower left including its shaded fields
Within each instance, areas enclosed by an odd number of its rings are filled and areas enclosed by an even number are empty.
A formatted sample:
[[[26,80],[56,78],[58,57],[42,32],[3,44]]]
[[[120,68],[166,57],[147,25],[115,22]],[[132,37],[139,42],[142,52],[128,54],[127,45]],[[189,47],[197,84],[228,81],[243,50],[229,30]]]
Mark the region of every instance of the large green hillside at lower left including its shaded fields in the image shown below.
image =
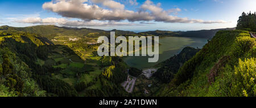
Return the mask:
[[[68,46],[27,32],[1,31],[0,48],[0,96],[127,96],[119,84],[128,67],[119,57],[88,50],[85,62]]]

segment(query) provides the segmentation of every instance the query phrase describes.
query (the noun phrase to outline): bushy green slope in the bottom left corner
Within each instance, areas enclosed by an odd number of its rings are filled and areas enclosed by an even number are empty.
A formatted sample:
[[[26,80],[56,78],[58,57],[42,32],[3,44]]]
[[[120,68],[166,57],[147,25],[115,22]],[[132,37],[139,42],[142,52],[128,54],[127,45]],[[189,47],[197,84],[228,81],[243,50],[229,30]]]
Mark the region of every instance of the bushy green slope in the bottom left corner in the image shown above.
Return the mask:
[[[9,49],[0,49],[0,96],[46,96],[32,72]]]

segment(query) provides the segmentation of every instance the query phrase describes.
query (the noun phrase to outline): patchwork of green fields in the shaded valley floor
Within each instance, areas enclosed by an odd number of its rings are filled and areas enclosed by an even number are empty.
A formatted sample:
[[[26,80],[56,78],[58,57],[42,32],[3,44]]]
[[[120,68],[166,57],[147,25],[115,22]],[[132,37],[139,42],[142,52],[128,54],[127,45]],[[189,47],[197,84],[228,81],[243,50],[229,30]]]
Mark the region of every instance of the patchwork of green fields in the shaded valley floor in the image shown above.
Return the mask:
[[[106,79],[98,79],[104,68],[100,67],[101,57],[97,57],[94,50],[84,52],[85,61],[75,53],[67,51],[67,46],[58,46],[48,55],[46,61],[38,59],[40,65],[49,65],[53,68],[61,68],[59,73],[52,74],[54,79],[60,79],[69,85],[75,85],[77,82],[84,82],[85,90],[79,92],[79,96],[85,96],[86,90],[102,89],[101,81],[109,82]],[[97,79],[97,80],[96,80]],[[114,86],[108,83],[109,87]]]

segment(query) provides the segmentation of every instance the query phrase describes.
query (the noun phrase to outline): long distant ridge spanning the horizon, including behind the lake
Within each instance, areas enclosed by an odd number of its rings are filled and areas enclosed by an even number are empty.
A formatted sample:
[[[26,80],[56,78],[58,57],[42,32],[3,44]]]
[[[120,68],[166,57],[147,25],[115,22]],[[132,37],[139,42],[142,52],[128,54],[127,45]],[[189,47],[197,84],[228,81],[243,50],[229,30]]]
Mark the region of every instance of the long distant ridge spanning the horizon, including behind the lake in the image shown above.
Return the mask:
[[[201,31],[187,31],[187,32],[171,32],[171,31],[148,31],[148,32],[130,32],[130,31],[120,31],[113,29],[118,35],[123,36],[177,36],[177,37],[198,37],[211,39],[216,32],[221,30],[234,30],[235,28],[223,28],[223,29],[210,29]],[[32,27],[9,27],[1,26],[0,31],[10,31],[10,32],[30,32],[36,33],[40,36],[47,37],[49,40],[55,39],[55,37],[92,37],[96,38],[98,36],[109,36],[110,31],[104,31],[101,29],[90,29],[90,28],[71,28],[71,27],[57,27],[56,25],[37,25]],[[57,42],[57,44],[59,44]]]

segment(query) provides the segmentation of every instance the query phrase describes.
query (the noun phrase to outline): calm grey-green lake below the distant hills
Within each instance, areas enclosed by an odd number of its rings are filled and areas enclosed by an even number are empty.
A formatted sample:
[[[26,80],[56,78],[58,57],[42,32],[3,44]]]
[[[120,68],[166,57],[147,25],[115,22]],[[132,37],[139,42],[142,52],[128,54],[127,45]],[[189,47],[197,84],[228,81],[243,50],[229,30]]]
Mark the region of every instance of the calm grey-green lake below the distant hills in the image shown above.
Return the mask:
[[[159,38],[159,61],[155,63],[148,63],[148,58],[152,57],[124,57],[125,61],[130,67],[136,67],[139,69],[150,68],[156,64],[165,61],[168,58],[173,57],[175,54],[179,54],[180,51],[186,47],[199,47],[202,48],[207,44],[205,38],[191,38],[191,37],[162,37]],[[153,43],[154,44],[154,43]]]

